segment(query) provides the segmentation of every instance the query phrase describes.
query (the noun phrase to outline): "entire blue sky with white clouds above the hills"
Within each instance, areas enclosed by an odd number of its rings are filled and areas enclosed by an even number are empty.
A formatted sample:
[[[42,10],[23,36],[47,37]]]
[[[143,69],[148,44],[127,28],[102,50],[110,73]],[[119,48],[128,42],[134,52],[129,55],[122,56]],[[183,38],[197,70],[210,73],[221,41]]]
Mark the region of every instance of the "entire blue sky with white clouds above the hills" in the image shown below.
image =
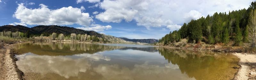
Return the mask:
[[[0,0],[0,25],[61,25],[159,39],[184,22],[248,8],[254,0]]]

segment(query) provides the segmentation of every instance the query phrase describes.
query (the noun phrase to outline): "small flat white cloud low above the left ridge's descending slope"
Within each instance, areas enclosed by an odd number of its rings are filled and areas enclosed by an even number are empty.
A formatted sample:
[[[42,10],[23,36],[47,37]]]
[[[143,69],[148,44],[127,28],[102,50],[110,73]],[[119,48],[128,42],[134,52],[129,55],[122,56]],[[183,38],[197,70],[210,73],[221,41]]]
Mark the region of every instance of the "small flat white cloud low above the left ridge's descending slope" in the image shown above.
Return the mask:
[[[100,25],[97,25],[97,26],[92,26],[92,27],[78,27],[77,29],[83,29],[83,30],[87,30],[87,31],[96,31],[96,32],[99,32],[99,31],[104,31],[104,30],[108,30],[108,29],[111,29],[112,27],[111,26],[100,26]]]

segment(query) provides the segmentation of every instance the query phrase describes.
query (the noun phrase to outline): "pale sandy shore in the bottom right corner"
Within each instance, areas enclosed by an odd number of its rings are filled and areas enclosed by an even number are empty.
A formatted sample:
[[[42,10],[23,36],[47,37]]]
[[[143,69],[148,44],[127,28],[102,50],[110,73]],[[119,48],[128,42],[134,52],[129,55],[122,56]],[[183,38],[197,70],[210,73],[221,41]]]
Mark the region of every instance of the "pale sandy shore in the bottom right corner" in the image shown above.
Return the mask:
[[[246,53],[235,53],[240,58],[241,69],[237,72],[235,80],[256,80],[256,55]]]

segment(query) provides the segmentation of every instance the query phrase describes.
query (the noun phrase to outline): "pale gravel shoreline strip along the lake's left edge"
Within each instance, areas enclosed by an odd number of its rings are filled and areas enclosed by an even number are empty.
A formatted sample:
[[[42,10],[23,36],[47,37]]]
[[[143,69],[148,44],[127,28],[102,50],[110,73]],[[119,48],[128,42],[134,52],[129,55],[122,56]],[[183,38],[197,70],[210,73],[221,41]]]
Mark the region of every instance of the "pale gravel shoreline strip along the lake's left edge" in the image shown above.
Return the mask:
[[[21,80],[19,70],[13,60],[12,44],[0,46],[0,80]]]

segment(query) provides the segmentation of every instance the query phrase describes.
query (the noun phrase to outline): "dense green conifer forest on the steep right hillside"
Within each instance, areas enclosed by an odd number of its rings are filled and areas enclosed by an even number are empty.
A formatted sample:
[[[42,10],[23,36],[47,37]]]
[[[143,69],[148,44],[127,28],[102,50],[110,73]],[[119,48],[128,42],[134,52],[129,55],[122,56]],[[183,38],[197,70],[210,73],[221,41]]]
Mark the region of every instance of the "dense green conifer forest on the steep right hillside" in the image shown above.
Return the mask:
[[[189,43],[202,41],[206,44],[232,43],[232,46],[241,46],[250,41],[249,28],[253,23],[250,19],[254,17],[255,8],[256,3],[252,2],[248,9],[216,12],[212,16],[191,20],[179,30],[166,34],[159,42],[168,44],[186,38]]]

